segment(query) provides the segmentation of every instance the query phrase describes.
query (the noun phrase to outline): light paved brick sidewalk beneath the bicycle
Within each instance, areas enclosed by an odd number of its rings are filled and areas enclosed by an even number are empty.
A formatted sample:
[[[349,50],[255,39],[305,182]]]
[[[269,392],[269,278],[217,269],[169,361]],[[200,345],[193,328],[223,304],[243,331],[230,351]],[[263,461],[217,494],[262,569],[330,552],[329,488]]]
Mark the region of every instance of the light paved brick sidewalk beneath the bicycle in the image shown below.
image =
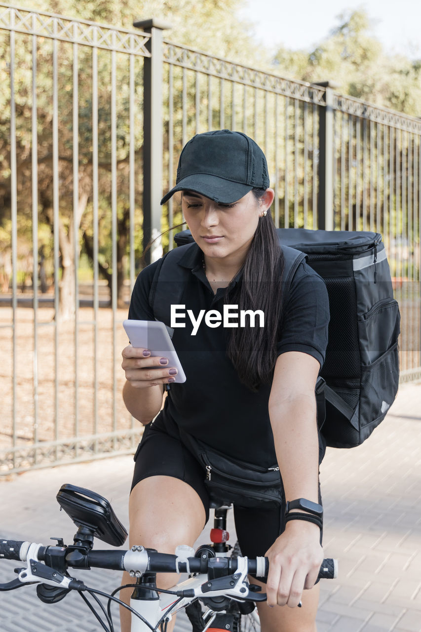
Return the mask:
[[[421,383],[403,384],[387,420],[363,446],[327,451],[321,471],[324,550],[338,558],[339,578],[322,582],[318,632],[421,632],[420,439]],[[0,479],[1,536],[44,544],[63,536],[70,542],[75,529],[55,498],[66,482],[106,496],[127,525],[132,465],[131,457],[122,456]],[[1,562],[0,581],[13,578],[15,566]],[[115,575],[90,571],[89,582],[113,589]],[[101,629],[73,594],[47,606],[34,588],[21,588],[0,593],[0,609],[2,632]],[[176,629],[187,629],[185,619]]]

